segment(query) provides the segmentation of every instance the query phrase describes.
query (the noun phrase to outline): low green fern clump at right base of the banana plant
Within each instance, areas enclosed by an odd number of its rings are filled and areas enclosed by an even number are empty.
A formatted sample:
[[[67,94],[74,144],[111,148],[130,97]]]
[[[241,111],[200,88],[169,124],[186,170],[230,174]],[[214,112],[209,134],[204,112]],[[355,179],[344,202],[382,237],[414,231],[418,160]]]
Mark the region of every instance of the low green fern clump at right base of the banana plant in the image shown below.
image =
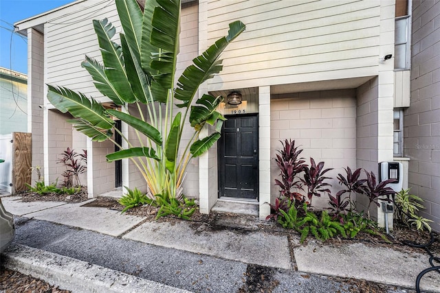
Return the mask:
[[[175,215],[179,219],[190,220],[190,217],[197,209],[195,200],[188,199],[185,196],[183,201],[179,201],[176,198],[166,198],[162,194],[157,194],[156,198],[160,206],[159,211],[157,211],[156,220],[166,215]]]

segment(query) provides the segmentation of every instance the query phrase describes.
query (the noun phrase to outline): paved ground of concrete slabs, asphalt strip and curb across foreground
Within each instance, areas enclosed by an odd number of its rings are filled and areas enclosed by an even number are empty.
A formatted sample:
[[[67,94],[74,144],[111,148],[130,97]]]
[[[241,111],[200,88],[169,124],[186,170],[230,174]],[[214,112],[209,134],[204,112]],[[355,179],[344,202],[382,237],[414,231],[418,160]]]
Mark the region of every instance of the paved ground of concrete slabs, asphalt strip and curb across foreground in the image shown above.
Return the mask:
[[[349,292],[343,282],[323,276],[397,285],[391,292],[407,292],[430,267],[427,255],[389,248],[300,245],[296,234],[252,217],[223,218],[219,229],[203,222],[148,222],[82,207],[86,202],[1,200],[17,215],[5,266],[74,292],[238,292],[258,287],[252,283],[256,272],[272,292]],[[440,292],[440,274],[426,274],[421,289]]]

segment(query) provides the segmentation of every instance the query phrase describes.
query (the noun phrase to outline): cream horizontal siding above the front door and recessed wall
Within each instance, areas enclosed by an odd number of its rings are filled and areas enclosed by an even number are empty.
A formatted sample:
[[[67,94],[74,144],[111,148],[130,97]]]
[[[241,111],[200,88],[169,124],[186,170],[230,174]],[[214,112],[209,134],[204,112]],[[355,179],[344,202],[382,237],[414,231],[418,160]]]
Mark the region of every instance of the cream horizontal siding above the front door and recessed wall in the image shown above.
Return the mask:
[[[246,31],[223,54],[223,71],[209,89],[377,75],[380,5],[210,0],[208,43],[224,36],[231,21],[243,21]]]

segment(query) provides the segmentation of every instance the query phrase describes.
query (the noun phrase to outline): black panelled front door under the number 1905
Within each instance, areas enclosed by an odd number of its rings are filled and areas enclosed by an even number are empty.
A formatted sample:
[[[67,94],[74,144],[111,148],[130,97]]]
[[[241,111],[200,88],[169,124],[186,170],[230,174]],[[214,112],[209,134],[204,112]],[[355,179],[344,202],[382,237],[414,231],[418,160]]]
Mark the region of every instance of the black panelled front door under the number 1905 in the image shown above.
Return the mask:
[[[219,139],[219,197],[257,200],[258,116],[226,116]]]

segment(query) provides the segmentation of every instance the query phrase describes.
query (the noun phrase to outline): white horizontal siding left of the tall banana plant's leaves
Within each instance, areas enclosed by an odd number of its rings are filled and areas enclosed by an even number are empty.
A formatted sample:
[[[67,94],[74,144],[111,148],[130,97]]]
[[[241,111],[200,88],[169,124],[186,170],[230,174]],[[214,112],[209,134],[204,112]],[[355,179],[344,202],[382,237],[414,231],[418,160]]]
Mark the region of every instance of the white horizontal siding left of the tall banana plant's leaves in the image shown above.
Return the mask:
[[[66,86],[87,96],[101,96],[81,62],[86,54],[102,60],[92,20],[106,17],[116,27],[114,40],[118,41],[121,29],[114,1],[78,3],[62,17],[48,21],[45,25],[47,83]]]

